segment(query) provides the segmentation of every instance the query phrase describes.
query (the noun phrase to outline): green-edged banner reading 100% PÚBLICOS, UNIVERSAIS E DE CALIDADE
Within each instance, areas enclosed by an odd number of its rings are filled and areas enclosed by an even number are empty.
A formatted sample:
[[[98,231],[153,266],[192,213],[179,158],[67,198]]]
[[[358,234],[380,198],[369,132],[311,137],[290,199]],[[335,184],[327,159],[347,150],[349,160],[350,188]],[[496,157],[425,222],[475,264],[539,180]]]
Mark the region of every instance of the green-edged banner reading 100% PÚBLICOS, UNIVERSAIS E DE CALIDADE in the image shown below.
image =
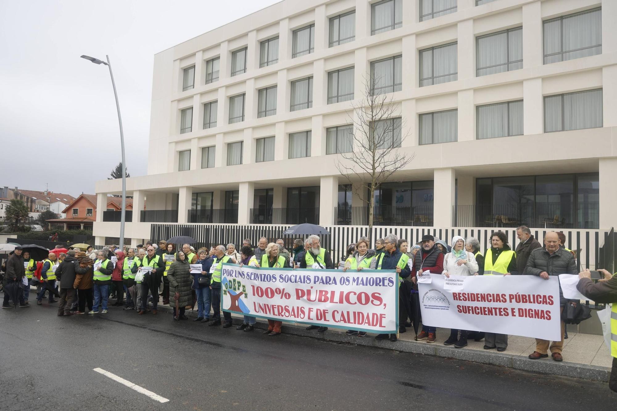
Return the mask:
[[[293,270],[225,263],[222,309],[285,322],[397,333],[399,279],[394,270]]]

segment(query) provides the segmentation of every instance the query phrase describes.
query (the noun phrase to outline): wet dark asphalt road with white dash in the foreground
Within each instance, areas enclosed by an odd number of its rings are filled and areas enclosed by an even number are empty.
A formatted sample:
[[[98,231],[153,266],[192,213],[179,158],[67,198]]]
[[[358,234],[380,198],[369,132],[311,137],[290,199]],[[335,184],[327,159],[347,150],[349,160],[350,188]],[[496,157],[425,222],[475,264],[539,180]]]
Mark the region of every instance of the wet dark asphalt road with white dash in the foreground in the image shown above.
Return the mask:
[[[0,410],[617,409],[617,394],[595,381],[172,322],[170,313],[56,310],[0,310]]]

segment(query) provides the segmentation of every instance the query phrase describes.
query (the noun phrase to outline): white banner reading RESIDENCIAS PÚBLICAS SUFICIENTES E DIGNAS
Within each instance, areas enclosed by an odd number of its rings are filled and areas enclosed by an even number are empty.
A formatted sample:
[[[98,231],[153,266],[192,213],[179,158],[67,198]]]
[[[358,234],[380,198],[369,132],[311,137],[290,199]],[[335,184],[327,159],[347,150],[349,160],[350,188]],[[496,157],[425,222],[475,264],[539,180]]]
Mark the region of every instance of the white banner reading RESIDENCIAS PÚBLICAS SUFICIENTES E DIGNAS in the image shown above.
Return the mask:
[[[448,286],[445,280],[431,274],[430,284],[418,283],[424,325],[560,341],[556,276],[451,275]]]

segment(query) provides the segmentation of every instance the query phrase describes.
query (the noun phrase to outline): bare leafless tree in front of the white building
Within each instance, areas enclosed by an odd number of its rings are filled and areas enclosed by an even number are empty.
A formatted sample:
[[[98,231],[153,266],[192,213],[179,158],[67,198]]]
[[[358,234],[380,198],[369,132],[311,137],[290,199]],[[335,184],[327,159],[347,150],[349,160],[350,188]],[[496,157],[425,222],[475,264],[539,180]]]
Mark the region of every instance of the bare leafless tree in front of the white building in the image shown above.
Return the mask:
[[[399,104],[392,99],[387,88],[380,88],[379,78],[365,76],[362,99],[354,103],[348,112],[354,131],[352,151],[344,152],[336,160],[336,168],[350,184],[355,185],[354,194],[368,204],[368,228],[373,231],[375,190],[395,172],[409,164],[415,153],[408,156],[400,146],[410,133],[400,115]],[[400,136],[400,137],[399,137]],[[368,189],[368,199],[362,193]]]

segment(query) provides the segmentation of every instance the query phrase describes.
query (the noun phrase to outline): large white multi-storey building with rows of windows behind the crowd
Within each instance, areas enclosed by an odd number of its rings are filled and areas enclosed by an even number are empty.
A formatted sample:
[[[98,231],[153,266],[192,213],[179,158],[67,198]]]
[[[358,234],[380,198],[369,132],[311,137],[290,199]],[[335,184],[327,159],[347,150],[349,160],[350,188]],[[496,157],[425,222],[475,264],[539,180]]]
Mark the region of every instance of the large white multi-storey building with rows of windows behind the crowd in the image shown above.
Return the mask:
[[[364,79],[415,158],[375,193],[389,226],[617,225],[617,1],[283,0],[156,54],[152,222],[365,224],[336,167]],[[406,136],[402,139],[400,136]],[[120,180],[98,181],[99,209]],[[359,193],[359,194],[356,194]],[[141,220],[141,222],[138,222]],[[94,223],[97,244],[118,223]]]

